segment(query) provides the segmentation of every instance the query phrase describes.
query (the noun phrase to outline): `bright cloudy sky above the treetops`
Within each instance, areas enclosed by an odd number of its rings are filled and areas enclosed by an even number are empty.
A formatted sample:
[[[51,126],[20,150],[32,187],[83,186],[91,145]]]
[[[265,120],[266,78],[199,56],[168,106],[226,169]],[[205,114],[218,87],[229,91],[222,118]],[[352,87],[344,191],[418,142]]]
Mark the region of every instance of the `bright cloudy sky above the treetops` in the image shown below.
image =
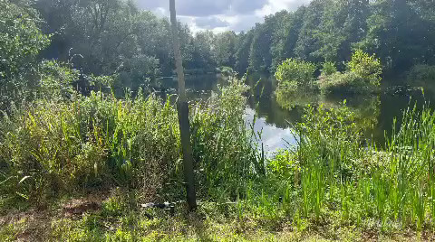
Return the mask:
[[[159,16],[169,16],[169,0],[136,0],[140,8]],[[264,17],[283,9],[294,11],[311,0],[176,0],[179,21],[193,33],[211,30],[247,31]]]

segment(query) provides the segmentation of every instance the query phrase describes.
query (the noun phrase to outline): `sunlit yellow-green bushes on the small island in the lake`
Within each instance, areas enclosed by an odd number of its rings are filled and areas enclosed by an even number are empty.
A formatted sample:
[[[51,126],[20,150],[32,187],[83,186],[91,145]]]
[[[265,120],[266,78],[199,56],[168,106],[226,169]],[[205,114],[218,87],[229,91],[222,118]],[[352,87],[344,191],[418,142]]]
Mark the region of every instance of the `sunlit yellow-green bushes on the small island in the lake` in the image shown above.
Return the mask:
[[[372,94],[379,90],[382,65],[374,55],[355,51],[346,66],[347,70],[342,73],[333,62],[326,61],[315,80],[314,63],[288,59],[276,69],[276,98],[280,103],[286,103],[285,99],[306,99],[315,95],[317,87],[323,94]]]

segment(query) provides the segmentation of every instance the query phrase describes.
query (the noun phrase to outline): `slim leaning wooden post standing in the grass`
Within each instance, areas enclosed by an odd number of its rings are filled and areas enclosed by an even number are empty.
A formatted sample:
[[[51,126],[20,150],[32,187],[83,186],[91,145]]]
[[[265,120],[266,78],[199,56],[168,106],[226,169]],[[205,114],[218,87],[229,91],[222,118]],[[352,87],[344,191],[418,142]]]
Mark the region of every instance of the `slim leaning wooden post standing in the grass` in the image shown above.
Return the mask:
[[[189,104],[186,100],[186,85],[184,81],[183,61],[181,51],[179,51],[179,30],[177,14],[175,11],[175,0],[169,0],[170,23],[172,25],[172,42],[174,48],[175,65],[179,79],[179,131],[181,135],[181,147],[183,150],[184,181],[188,195],[189,209],[197,208],[197,194],[195,191],[195,179],[193,173],[192,148],[190,145],[190,125],[189,125]]]

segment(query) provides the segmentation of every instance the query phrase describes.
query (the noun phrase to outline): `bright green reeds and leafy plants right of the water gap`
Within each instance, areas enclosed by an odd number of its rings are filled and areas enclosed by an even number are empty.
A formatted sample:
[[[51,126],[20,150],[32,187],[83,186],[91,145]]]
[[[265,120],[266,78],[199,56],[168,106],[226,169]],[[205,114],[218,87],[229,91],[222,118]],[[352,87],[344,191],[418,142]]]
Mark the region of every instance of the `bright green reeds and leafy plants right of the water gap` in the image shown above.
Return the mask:
[[[304,121],[294,127],[299,136],[295,152],[279,154],[269,163],[269,178],[297,192],[299,204],[290,208],[300,212],[297,218],[322,219],[329,210],[339,212],[346,223],[375,219],[380,228],[432,226],[434,124],[429,108],[407,109],[400,128],[380,150],[366,145],[347,107],[309,107]],[[279,186],[272,185],[269,192],[288,196]]]

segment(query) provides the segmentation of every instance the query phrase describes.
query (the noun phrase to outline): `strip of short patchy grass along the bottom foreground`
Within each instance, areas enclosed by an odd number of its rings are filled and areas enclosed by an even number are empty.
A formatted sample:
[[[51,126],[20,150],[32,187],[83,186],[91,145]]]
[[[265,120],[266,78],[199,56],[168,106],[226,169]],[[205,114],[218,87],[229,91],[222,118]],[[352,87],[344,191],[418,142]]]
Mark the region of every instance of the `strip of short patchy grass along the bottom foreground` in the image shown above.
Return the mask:
[[[113,195],[112,195],[113,196]],[[110,194],[63,200],[48,209],[14,210],[0,216],[2,241],[431,241],[433,230],[389,228],[375,221],[356,226],[332,211],[321,220],[259,217],[237,203],[198,202],[186,213],[182,204],[174,216],[160,209],[124,209]],[[116,208],[116,209],[111,209]],[[119,209],[119,210],[117,210]]]

